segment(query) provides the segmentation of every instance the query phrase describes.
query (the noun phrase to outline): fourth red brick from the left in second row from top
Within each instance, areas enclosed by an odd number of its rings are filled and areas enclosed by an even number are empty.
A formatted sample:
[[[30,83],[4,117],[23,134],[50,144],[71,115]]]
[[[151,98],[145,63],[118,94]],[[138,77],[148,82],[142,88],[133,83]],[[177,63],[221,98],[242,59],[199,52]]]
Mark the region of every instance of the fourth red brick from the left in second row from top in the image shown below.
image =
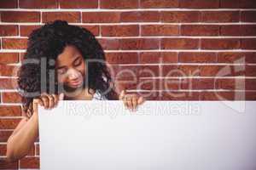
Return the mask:
[[[122,12],[121,22],[158,22],[160,21],[160,12],[158,11],[131,11]]]

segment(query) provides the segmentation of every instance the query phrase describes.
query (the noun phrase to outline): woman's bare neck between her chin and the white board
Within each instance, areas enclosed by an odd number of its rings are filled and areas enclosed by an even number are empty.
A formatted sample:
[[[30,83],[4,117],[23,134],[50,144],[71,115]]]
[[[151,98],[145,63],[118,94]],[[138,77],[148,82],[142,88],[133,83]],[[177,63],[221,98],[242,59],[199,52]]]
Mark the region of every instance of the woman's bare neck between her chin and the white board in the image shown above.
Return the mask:
[[[83,88],[79,94],[77,94],[73,97],[65,96],[65,99],[67,99],[67,100],[91,100],[95,93],[96,92],[93,89],[90,89],[90,93],[89,93],[89,88]]]

